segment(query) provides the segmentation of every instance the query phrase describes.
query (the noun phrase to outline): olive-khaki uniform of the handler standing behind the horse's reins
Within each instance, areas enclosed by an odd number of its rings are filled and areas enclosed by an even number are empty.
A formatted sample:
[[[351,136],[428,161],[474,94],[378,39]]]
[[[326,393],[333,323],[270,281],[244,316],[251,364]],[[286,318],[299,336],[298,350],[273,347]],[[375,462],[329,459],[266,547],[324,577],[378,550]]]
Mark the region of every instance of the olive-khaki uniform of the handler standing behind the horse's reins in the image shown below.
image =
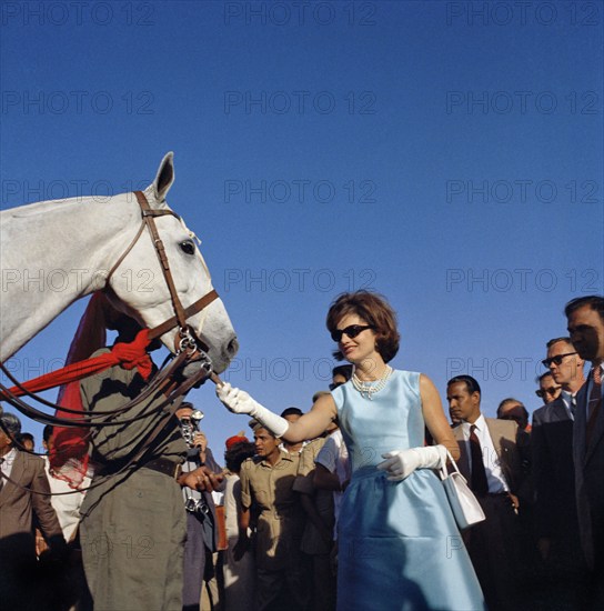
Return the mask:
[[[107,352],[107,349],[97,352]],[[88,411],[123,407],[142,391],[135,372],[112,367],[80,382]],[[81,507],[80,540],[94,611],[180,611],[185,512],[173,475],[137,464],[119,475],[104,475],[137,453],[154,429],[163,394],[152,395],[115,422],[149,413],[128,424],[92,429],[91,458],[97,473]],[[167,405],[164,410],[169,410]],[[164,412],[162,412],[164,413]],[[187,454],[179,423],[172,417],[151,443],[141,464]]]

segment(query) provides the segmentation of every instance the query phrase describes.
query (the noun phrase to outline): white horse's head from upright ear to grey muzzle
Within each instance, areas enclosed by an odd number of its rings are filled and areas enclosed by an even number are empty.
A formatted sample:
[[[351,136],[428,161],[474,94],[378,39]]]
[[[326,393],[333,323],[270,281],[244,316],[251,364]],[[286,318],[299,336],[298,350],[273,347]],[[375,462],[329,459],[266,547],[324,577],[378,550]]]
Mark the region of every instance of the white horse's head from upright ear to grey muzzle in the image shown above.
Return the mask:
[[[144,190],[149,207],[164,213],[154,217],[159,239],[173,279],[175,293],[184,309],[210,293],[212,279],[198,248],[198,240],[182,219],[173,213],[165,196],[174,182],[173,154],[168,153],[158,170],[155,180]],[[141,221],[138,211],[137,224]],[[175,314],[172,297],[160,263],[153,238],[144,228],[127,256],[112,270],[111,289],[120,303],[117,306],[133,315],[139,322],[153,329]],[[125,280],[125,281],[124,281]],[[212,369],[220,373],[235,355],[239,343],[220,299],[214,299],[201,311],[191,314],[187,324],[207,348]],[[174,352],[179,348],[179,325],[161,335],[164,345]]]

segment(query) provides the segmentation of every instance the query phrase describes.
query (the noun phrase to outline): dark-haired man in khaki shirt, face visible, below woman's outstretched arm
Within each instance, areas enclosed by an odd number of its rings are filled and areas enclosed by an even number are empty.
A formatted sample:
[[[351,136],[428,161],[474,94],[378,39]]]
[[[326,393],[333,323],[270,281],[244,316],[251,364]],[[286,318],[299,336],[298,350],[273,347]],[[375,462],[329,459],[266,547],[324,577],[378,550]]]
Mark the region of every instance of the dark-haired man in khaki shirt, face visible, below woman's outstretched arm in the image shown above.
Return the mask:
[[[299,457],[279,449],[279,439],[254,425],[256,457],[241,467],[241,504],[235,560],[250,544],[248,527],[255,517],[256,607],[259,611],[308,608],[300,542],[304,514],[293,482]]]

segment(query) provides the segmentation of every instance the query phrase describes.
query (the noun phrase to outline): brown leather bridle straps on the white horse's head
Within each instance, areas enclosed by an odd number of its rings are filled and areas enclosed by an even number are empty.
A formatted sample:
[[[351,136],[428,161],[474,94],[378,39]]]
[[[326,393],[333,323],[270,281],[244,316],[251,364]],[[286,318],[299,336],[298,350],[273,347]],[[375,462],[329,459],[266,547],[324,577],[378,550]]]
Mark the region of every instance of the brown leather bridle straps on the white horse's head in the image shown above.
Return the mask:
[[[124,252],[118,259],[115,264],[109,271],[107,276],[105,286],[109,286],[109,281],[113,276],[113,272],[121,266],[122,261],[125,259],[128,253],[134,248],[134,244],[139,241],[139,238],[142,236],[143,229],[147,227],[147,229],[149,229],[149,233],[151,236],[151,241],[153,242],[153,247],[155,248],[155,253],[160,261],[160,267],[163,273],[163,278],[165,279],[168,290],[170,291],[170,298],[172,300],[172,309],[174,310],[174,315],[172,318],[162,322],[158,327],[150,329],[149,339],[153,340],[153,339],[160,338],[164,333],[168,333],[168,331],[178,327],[179,332],[178,332],[178,335],[174,338],[174,351],[177,352],[177,354],[180,352],[188,352],[189,357],[191,358],[195,354],[199,348],[201,348],[204,351],[208,351],[209,350],[208,345],[203,341],[201,341],[199,337],[197,337],[195,332],[191,329],[191,327],[187,324],[187,320],[195,315],[198,312],[201,312],[201,310],[203,310],[210,303],[212,303],[212,301],[218,299],[218,293],[214,289],[212,289],[208,294],[204,294],[202,298],[191,303],[191,306],[189,306],[188,308],[182,307],[182,303],[180,301],[180,298],[177,291],[177,287],[174,284],[174,279],[172,277],[172,271],[170,269],[170,263],[168,261],[168,256],[165,254],[165,248],[163,246],[163,242],[158,232],[158,228],[155,226],[155,217],[165,217],[165,216],[172,216],[177,218],[180,218],[180,217],[172,210],[153,210],[149,206],[149,202],[147,201],[147,198],[144,197],[144,193],[142,191],[134,191],[134,196],[137,196],[137,201],[139,202],[139,206],[141,208],[142,222],[139,230],[137,231],[137,234],[134,236],[134,239],[130,242],[128,248],[124,250]]]

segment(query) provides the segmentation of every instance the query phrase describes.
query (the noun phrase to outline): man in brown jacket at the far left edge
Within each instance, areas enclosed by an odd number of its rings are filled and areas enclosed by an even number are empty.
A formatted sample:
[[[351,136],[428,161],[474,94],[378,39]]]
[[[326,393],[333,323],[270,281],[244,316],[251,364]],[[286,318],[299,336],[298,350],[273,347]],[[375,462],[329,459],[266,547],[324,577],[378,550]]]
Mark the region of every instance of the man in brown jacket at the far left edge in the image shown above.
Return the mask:
[[[50,487],[41,458],[20,451],[16,440],[21,422],[12,413],[0,415],[0,592],[6,609],[34,609],[34,519],[50,548],[67,549],[57,513],[50,504]],[[48,593],[47,593],[48,597]],[[51,608],[46,599],[47,609]]]

